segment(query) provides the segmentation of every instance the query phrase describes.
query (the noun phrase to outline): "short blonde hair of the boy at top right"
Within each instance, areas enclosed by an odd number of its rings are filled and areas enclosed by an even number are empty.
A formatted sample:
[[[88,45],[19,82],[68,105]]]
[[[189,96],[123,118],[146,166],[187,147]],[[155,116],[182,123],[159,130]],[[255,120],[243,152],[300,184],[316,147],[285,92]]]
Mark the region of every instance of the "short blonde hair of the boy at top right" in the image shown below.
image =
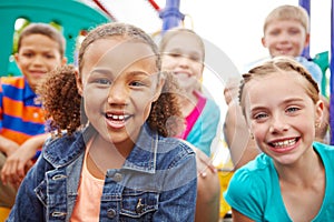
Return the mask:
[[[281,6],[275,8],[265,19],[263,31],[265,32],[268,24],[277,20],[296,20],[304,27],[305,32],[310,32],[310,17],[307,11],[302,7]]]

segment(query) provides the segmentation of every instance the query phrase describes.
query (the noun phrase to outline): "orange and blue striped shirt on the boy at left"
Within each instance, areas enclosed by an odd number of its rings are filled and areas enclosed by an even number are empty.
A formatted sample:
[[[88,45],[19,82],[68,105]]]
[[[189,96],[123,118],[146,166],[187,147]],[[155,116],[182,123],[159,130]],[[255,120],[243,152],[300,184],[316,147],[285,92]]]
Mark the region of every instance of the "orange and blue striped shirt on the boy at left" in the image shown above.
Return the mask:
[[[45,114],[24,77],[0,79],[0,134],[22,144],[45,133]]]

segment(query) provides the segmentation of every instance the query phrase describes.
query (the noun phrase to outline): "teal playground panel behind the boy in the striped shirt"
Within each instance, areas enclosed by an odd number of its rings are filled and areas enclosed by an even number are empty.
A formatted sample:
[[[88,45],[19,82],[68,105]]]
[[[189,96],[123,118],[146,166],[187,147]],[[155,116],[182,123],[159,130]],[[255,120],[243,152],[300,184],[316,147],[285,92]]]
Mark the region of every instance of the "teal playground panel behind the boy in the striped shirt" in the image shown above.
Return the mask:
[[[89,30],[97,24],[112,21],[102,11],[94,9],[77,0],[1,0],[0,1],[0,75],[8,75],[16,70],[14,62],[9,58],[12,53],[16,21],[20,18],[30,22],[55,22],[62,27],[66,38],[66,53],[68,62],[73,62],[76,39],[82,30]],[[16,75],[17,73],[11,73]]]

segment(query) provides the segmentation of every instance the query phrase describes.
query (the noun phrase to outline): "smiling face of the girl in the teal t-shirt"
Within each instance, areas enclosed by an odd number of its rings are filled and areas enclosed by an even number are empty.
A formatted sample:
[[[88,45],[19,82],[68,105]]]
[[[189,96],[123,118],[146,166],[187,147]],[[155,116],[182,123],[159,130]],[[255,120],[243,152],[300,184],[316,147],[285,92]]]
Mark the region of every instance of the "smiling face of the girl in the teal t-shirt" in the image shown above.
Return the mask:
[[[310,84],[296,71],[253,78],[245,84],[244,110],[259,149],[278,164],[293,164],[312,151],[323,103],[314,103]]]

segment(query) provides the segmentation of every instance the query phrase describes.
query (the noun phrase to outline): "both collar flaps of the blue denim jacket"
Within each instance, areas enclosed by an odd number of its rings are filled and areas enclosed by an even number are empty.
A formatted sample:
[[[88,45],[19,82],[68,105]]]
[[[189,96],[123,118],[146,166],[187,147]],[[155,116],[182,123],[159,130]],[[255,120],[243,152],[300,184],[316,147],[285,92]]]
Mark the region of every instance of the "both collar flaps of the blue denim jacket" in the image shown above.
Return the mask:
[[[53,167],[61,168],[70,164],[78,155],[82,155],[87,142],[96,134],[96,130],[89,125],[76,132],[71,137],[63,135],[60,140],[51,140],[43,158]],[[140,130],[139,140],[127,158],[122,169],[155,173],[159,135],[145,123]]]

